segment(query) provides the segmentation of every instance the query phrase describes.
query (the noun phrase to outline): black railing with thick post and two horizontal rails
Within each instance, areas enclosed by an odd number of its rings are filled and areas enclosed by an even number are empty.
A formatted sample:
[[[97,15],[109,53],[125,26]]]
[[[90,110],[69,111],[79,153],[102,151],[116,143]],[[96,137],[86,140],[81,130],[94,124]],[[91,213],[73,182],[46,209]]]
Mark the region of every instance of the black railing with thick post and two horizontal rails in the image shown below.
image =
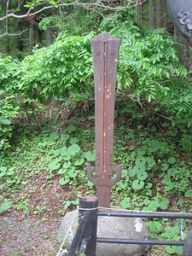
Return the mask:
[[[96,256],[96,243],[117,244],[143,244],[143,245],[170,245],[184,246],[184,256],[192,255],[191,237],[182,241],[159,241],[159,240],[133,240],[125,238],[96,237],[97,217],[126,217],[126,218],[192,218],[192,213],[174,212],[118,212],[114,210],[101,211],[98,208],[96,197],[82,197],[79,200],[79,228],[75,233],[67,256],[80,255]]]

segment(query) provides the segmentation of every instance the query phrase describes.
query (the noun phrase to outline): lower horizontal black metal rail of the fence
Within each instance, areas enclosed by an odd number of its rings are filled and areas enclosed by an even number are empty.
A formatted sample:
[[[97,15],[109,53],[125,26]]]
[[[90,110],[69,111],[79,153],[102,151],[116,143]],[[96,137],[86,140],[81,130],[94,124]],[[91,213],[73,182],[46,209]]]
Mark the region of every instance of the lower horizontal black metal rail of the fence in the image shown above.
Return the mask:
[[[97,237],[96,242],[183,246],[185,241],[133,240],[133,239],[120,239],[120,238],[116,239],[116,238]]]

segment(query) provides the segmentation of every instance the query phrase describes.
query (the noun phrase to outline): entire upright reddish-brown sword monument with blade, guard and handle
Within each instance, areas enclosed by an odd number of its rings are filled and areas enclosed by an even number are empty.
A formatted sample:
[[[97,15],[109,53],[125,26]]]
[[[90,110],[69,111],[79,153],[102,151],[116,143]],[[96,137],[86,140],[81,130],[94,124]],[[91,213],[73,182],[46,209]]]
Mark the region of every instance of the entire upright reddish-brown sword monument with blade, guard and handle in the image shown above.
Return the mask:
[[[99,206],[110,207],[111,187],[119,182],[122,170],[122,165],[113,170],[114,97],[120,40],[105,32],[91,39],[90,44],[95,81],[96,167],[87,164],[88,178],[97,185]]]

